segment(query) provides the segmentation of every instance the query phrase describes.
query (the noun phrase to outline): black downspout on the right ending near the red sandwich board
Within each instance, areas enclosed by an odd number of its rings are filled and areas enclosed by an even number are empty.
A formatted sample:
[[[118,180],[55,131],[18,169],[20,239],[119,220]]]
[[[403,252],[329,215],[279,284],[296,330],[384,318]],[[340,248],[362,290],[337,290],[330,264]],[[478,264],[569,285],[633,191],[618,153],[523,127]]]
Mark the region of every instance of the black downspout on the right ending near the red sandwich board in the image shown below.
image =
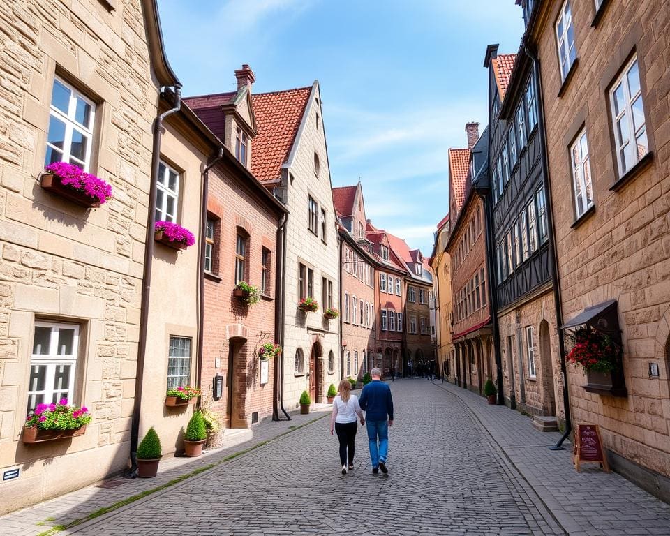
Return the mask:
[[[565,366],[565,338],[563,337],[563,330],[560,326],[563,325],[563,307],[560,303],[560,279],[558,278],[558,256],[556,254],[556,234],[553,229],[553,202],[551,200],[551,187],[549,184],[549,161],[546,154],[546,131],[544,129],[544,99],[542,98],[542,76],[539,72],[539,58],[533,50],[530,50],[528,43],[524,40],[523,50],[528,54],[528,57],[533,60],[533,76],[535,77],[535,85],[537,86],[537,105],[539,113],[537,114],[537,122],[539,133],[542,135],[542,143],[539,144],[542,154],[542,174],[544,175],[544,192],[546,196],[546,229],[549,234],[549,251],[551,257],[551,278],[553,279],[553,301],[556,306],[556,322],[558,323],[558,357],[560,358],[560,373],[563,375],[563,412],[565,412],[565,433],[556,445],[549,447],[550,450],[565,450],[562,447],[565,441],[572,432],[572,419],[570,417],[570,401],[569,389],[567,387],[567,367]]]

